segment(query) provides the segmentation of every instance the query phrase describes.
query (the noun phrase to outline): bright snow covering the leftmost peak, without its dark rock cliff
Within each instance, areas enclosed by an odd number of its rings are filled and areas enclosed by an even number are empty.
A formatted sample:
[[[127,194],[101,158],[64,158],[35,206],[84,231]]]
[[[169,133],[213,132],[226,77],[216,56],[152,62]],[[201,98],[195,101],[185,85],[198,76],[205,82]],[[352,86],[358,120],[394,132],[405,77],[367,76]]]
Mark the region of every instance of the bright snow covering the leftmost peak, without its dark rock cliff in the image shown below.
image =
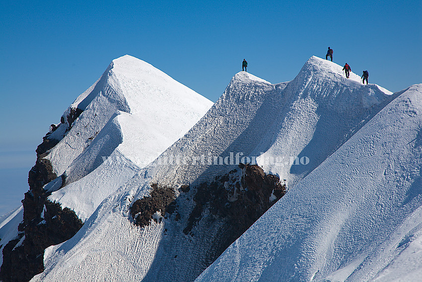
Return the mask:
[[[45,186],[49,200],[69,207],[85,221],[110,193],[182,137],[212,102],[160,70],[126,55],[71,108],[84,111],[46,156],[57,175]],[[65,127],[65,124],[62,124]],[[61,126],[62,126],[61,125]],[[58,133],[57,133],[58,132]],[[60,187],[65,186],[64,188]]]

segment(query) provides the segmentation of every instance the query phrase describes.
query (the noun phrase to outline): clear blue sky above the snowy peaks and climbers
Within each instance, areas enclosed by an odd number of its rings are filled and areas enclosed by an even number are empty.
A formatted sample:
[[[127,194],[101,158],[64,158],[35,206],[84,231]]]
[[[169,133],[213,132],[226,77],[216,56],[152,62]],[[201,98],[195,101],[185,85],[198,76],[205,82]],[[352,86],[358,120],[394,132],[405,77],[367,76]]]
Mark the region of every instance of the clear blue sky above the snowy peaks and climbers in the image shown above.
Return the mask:
[[[390,91],[422,83],[421,0],[18,0],[0,10],[0,214],[28,189],[49,125],[125,54],[213,101],[243,58],[279,83],[328,46],[336,63]]]

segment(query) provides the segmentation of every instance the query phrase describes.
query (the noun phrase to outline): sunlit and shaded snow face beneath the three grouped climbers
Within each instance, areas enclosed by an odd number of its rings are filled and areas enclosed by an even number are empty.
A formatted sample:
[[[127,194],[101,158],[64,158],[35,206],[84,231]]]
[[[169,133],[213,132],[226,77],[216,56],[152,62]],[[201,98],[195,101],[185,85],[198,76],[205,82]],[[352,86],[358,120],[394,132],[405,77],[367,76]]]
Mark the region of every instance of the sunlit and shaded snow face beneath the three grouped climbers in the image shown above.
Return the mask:
[[[292,187],[392,100],[380,89],[360,84],[353,73],[346,79],[335,63],[310,58],[283,91],[287,102],[252,155]],[[292,166],[291,158],[309,163]]]

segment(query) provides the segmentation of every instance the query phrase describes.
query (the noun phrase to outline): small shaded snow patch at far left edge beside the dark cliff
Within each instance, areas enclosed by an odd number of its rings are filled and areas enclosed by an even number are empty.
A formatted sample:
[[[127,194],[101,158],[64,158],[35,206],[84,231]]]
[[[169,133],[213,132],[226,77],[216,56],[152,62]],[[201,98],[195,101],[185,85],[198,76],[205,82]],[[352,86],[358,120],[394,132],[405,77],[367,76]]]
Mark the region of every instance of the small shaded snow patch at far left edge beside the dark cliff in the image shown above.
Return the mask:
[[[23,206],[19,206],[0,217],[0,266],[3,263],[3,248],[18,238],[17,227],[23,220]]]

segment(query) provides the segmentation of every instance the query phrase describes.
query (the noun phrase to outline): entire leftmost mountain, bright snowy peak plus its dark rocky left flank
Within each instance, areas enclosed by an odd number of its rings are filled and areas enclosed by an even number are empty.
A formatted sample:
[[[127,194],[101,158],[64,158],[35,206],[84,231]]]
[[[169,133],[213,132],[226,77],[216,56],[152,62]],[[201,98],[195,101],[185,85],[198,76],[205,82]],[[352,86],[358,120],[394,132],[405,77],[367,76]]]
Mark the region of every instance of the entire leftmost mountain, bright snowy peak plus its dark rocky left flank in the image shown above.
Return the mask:
[[[35,261],[42,259],[46,247],[72,237],[105,197],[183,136],[211,105],[148,63],[128,55],[113,60],[37,148],[18,235],[25,238],[26,250],[16,250]],[[76,224],[73,228],[69,220]],[[53,226],[63,234],[52,235]],[[19,251],[7,254],[2,280],[6,269],[29,279],[40,272],[37,264],[25,266],[30,262],[20,257]],[[42,260],[39,263],[42,267]]]

